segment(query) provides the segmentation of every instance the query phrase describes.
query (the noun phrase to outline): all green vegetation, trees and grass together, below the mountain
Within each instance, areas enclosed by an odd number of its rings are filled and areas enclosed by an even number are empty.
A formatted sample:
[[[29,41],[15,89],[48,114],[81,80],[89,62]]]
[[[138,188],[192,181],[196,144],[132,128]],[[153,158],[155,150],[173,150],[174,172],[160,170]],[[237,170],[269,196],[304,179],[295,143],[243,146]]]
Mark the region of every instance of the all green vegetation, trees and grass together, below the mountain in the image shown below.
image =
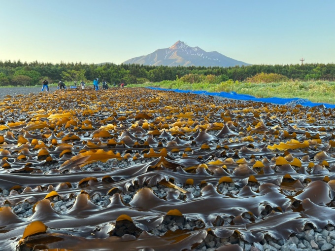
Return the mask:
[[[128,86],[159,86],[208,92],[236,92],[255,97],[303,98],[334,104],[335,64],[252,65],[235,67],[167,67],[144,65],[22,63],[0,61],[0,86],[67,86],[105,79]],[[332,82],[333,81],[333,82]]]

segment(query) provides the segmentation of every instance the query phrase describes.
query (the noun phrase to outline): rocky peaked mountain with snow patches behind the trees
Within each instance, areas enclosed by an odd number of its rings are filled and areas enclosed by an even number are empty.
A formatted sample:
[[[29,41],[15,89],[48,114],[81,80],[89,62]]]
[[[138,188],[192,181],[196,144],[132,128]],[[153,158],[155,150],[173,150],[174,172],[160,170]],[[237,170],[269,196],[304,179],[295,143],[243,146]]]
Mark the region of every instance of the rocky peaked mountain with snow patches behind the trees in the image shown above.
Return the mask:
[[[139,64],[150,66],[242,66],[250,65],[229,58],[217,51],[204,51],[201,48],[190,47],[183,41],[177,41],[171,47],[158,49],[146,56],[129,59],[123,64]]]

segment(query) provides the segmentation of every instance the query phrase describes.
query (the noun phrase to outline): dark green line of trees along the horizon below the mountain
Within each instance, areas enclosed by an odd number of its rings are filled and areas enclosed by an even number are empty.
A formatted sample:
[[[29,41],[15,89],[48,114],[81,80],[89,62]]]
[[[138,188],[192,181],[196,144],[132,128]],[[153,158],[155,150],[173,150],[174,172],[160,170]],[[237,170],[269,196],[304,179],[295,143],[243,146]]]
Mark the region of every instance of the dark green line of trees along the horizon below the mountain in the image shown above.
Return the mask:
[[[221,81],[233,79],[244,81],[259,73],[276,73],[289,79],[335,80],[335,64],[296,64],[296,65],[251,65],[234,67],[198,66],[146,66],[138,64],[86,64],[86,63],[27,63],[0,61],[0,86],[34,86],[43,79],[50,83],[62,81],[92,81],[105,79],[108,83],[140,84],[176,80],[187,75],[215,76]]]

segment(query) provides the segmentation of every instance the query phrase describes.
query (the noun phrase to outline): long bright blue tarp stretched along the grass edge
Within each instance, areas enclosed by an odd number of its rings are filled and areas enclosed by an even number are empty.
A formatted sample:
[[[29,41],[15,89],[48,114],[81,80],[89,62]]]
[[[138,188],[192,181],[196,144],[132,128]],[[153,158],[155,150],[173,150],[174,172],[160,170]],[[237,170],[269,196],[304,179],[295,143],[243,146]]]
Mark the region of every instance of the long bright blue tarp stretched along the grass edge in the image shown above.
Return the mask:
[[[235,92],[207,92],[207,91],[191,91],[191,90],[179,90],[179,89],[166,89],[166,88],[158,88],[158,87],[147,87],[153,90],[161,90],[161,91],[174,91],[181,93],[194,93],[194,94],[202,94],[202,95],[211,95],[211,96],[219,96],[227,99],[236,99],[236,100],[249,100],[256,102],[266,102],[272,104],[279,105],[302,105],[308,107],[315,107],[324,105],[326,108],[335,108],[335,105],[332,104],[324,104],[324,103],[313,103],[306,99],[292,98],[292,99],[284,99],[284,98],[256,98],[251,95],[246,94],[237,94]]]

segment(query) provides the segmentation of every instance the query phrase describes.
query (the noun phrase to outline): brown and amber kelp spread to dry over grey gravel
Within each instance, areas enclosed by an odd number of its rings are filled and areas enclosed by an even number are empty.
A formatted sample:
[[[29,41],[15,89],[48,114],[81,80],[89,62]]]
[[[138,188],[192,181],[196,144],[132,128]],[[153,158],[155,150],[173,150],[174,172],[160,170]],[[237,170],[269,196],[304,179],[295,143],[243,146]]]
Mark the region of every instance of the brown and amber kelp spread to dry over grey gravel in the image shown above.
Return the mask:
[[[334,240],[332,109],[116,88],[6,96],[0,111],[2,250]]]

